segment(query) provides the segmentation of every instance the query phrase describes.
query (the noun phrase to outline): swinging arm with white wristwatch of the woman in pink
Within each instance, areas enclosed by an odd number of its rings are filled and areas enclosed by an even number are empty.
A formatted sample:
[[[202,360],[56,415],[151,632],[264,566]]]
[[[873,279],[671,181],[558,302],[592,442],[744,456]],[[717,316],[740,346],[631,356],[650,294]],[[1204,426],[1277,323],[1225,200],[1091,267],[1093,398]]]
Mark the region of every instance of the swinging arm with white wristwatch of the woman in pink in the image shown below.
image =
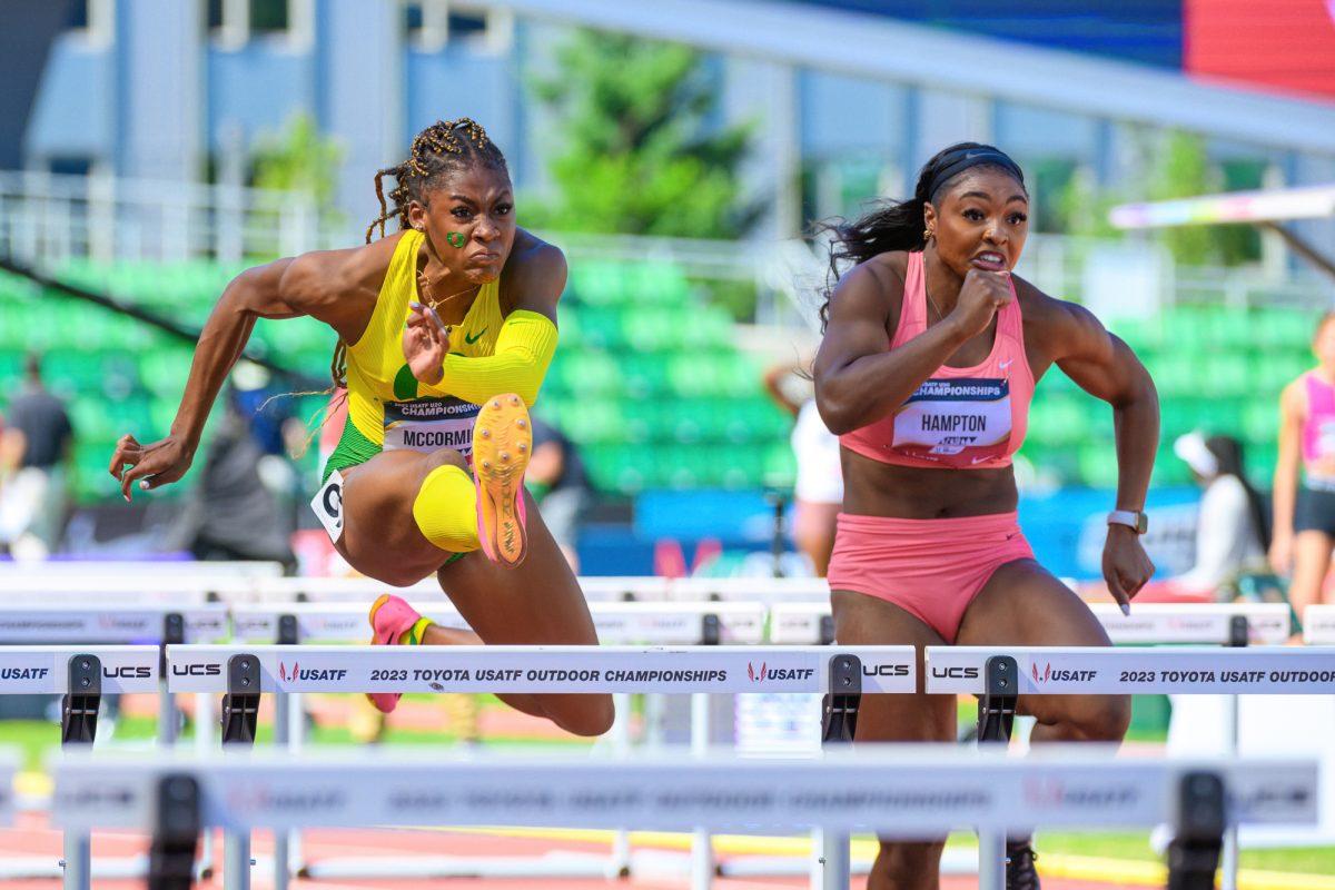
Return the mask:
[[[1057,300],[1051,300],[1049,306],[1055,322],[1051,342],[1060,344],[1053,356],[1057,367],[1081,390],[1112,406],[1117,439],[1117,510],[1141,511],[1159,451],[1155,382],[1131,347],[1109,334],[1088,310]],[[1127,606],[1153,571],[1136,531],[1109,524],[1103,574],[1112,596]]]

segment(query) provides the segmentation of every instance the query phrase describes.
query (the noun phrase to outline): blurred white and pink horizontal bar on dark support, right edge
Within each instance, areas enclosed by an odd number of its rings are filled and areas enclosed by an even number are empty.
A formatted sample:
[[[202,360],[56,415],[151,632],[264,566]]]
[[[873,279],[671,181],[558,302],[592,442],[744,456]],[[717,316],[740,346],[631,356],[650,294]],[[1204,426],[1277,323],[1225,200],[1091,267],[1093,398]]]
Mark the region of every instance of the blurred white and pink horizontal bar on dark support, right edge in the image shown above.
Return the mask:
[[[1282,224],[1290,219],[1327,216],[1335,216],[1335,184],[1120,204],[1108,212],[1108,221],[1124,230],[1251,223],[1278,234],[1295,254],[1335,278],[1335,259]]]

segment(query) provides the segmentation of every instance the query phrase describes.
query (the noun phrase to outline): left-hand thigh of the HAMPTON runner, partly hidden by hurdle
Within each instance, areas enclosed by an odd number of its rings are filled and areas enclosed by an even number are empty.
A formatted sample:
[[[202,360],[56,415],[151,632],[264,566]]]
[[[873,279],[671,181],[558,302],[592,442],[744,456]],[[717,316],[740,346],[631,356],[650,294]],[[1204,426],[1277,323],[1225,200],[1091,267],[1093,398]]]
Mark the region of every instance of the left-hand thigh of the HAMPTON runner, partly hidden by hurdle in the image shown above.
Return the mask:
[[[922,648],[944,646],[945,640],[921,619],[898,606],[846,590],[830,595],[834,610],[834,639],[841,646],[914,646],[918,677]],[[955,697],[864,695],[857,715],[860,742],[952,742],[955,741]]]

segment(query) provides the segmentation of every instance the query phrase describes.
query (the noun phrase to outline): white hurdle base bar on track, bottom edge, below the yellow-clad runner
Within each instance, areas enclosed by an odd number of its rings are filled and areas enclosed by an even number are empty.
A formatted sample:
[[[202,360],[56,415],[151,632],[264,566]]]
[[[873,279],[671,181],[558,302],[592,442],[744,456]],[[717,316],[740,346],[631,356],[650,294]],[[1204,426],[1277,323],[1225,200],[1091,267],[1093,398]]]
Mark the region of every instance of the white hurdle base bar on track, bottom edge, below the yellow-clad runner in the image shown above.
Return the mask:
[[[538,857],[338,857],[310,862],[298,877],[339,878],[621,878],[607,855],[555,851]]]

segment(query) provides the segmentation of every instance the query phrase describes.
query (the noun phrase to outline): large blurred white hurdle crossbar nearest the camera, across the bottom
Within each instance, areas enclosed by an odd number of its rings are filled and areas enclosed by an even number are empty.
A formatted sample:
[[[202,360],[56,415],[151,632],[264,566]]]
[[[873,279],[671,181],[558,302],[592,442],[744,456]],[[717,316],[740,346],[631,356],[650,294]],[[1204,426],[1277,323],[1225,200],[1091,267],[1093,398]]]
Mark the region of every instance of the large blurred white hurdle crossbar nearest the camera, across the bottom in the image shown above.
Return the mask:
[[[334,826],[562,825],[606,829],[874,831],[921,838],[1169,822],[1169,887],[1212,886],[1226,825],[1316,819],[1312,761],[1011,758],[956,746],[866,747],[821,758],[714,754],[567,759],[286,753],[211,758],[63,757],[55,819],[69,831],[152,834],[151,890],[184,890],[202,827],[228,835]],[[453,759],[451,759],[453,758]],[[1016,806],[1024,801],[1025,806]],[[224,883],[244,887],[242,878]],[[826,885],[833,886],[833,885]],[[846,883],[844,885],[846,887]]]

